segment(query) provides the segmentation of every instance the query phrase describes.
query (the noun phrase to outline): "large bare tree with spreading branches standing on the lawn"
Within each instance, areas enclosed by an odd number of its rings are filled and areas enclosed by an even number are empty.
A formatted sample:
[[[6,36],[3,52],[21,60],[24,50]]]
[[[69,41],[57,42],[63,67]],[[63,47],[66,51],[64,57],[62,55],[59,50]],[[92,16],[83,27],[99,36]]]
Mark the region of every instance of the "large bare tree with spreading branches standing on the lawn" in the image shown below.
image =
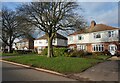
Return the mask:
[[[74,13],[75,2],[31,2],[23,4],[19,11],[24,18],[40,30],[48,39],[48,57],[53,56],[52,40],[59,30],[74,30],[84,25],[81,16]],[[82,25],[82,26],[81,26]]]

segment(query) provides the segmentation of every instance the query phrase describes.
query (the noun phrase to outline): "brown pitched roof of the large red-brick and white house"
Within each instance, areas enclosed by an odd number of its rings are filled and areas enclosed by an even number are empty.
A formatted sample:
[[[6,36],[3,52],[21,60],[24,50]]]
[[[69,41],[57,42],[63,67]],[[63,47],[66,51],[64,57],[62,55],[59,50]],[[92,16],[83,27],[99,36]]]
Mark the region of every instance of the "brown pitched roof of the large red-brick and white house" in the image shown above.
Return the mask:
[[[86,29],[83,30],[79,30],[76,31],[70,35],[76,35],[76,34],[83,34],[83,33],[92,33],[92,32],[98,32],[98,31],[105,31],[105,30],[115,30],[115,29],[119,29],[119,28],[115,28],[115,27],[111,27],[111,26],[107,26],[105,24],[96,24],[94,27],[87,27]]]

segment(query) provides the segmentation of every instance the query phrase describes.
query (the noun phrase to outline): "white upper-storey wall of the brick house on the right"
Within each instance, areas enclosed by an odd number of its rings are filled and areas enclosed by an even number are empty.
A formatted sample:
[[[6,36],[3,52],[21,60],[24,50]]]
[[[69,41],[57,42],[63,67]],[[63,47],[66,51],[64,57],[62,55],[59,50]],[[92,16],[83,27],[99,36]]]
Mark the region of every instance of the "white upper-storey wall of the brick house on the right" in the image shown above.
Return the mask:
[[[77,35],[71,35],[68,37],[68,44],[77,44],[77,43],[99,43],[99,42],[112,42],[112,41],[119,41],[119,31],[115,31],[114,37],[108,37],[108,31],[112,30],[106,30],[106,31],[99,31],[99,32],[93,32],[93,33],[86,33],[86,34],[77,34]],[[101,38],[94,38],[95,33],[100,33]],[[78,40],[78,36],[82,35],[84,37],[83,40]],[[70,41],[70,37],[73,37],[73,40]]]

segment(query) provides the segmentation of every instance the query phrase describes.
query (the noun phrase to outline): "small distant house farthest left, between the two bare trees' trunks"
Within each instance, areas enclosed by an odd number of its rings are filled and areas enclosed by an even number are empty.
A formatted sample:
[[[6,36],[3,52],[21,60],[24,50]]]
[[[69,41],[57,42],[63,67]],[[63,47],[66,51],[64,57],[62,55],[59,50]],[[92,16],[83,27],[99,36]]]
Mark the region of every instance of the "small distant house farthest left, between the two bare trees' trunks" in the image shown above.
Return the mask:
[[[34,49],[34,38],[31,39],[22,39],[16,42],[17,50],[33,50]]]

